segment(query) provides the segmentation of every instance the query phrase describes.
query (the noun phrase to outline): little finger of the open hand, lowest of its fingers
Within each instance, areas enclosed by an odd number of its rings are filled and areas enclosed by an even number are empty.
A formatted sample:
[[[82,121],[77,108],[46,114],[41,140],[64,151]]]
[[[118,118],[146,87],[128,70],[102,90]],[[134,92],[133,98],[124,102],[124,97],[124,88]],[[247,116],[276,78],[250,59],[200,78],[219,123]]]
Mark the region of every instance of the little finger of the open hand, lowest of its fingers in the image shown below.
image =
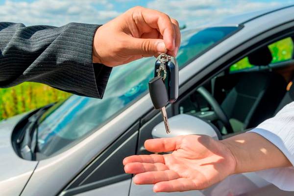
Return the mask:
[[[195,183],[191,179],[178,178],[170,181],[158,182],[154,185],[153,191],[157,192],[182,192],[196,190]]]

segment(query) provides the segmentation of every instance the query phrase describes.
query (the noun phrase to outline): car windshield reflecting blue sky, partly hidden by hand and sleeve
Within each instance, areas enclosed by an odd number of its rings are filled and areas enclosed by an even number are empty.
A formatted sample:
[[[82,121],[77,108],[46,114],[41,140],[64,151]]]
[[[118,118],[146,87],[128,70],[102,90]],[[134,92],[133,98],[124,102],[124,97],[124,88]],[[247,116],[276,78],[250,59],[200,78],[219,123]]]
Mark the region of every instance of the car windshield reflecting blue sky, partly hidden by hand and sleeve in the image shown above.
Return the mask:
[[[179,68],[223,40],[237,27],[213,27],[182,32],[176,57]],[[155,58],[143,58],[113,69],[103,99],[73,95],[49,108],[38,128],[38,150],[46,156],[64,150],[111,120],[147,93]]]

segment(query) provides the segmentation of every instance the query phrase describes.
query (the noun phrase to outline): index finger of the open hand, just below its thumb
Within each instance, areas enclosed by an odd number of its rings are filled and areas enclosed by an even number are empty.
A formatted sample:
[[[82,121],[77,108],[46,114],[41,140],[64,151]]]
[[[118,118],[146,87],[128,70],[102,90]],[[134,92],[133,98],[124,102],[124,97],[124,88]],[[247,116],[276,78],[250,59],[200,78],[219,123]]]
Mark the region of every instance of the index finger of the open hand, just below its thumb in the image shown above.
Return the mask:
[[[123,165],[133,162],[140,163],[165,163],[163,155],[150,154],[150,155],[133,155],[123,159]]]

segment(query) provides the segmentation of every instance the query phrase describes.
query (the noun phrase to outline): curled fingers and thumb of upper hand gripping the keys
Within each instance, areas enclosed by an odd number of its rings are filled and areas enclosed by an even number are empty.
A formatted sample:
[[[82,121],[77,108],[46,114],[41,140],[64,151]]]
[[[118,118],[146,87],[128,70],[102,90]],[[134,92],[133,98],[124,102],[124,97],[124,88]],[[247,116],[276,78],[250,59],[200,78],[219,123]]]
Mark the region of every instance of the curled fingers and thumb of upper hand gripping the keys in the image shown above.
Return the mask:
[[[143,7],[132,8],[130,13],[127,16],[131,17],[127,20],[131,19],[129,23],[133,27],[129,29],[131,33],[126,34],[132,36],[123,45],[130,51],[128,54],[157,56],[168,49],[170,55],[176,55],[181,38],[176,20],[162,12]]]

